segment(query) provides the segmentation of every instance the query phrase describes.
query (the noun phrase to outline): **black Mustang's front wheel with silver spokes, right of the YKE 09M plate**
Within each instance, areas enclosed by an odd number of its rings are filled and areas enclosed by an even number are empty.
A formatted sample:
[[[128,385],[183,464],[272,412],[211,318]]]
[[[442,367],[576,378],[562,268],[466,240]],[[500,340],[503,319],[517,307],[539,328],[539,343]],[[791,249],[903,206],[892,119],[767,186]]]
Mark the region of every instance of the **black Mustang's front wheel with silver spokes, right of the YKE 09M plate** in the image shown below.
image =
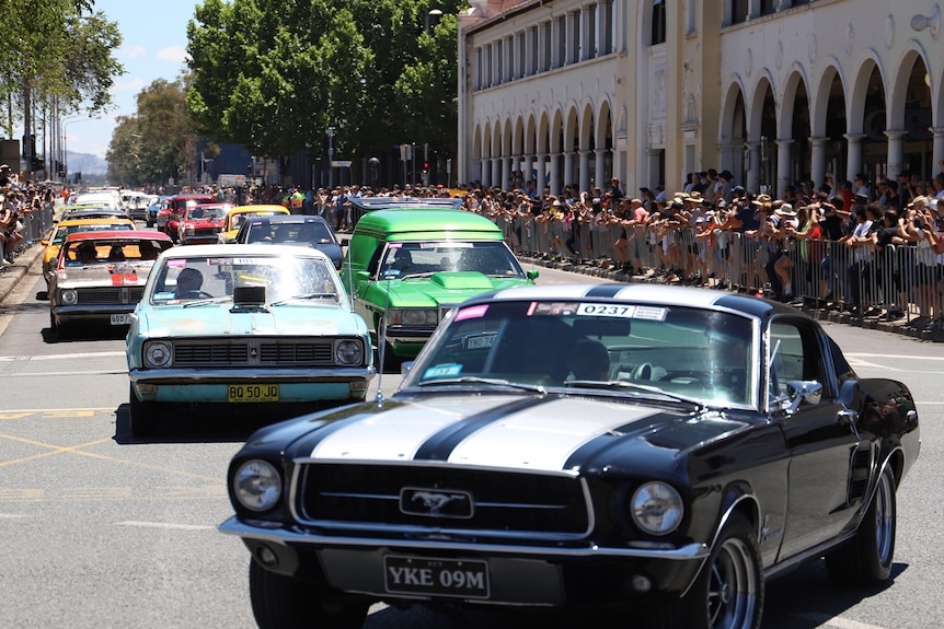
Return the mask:
[[[758,629],[763,614],[763,573],[756,532],[733,513],[691,590],[664,601],[660,629]]]

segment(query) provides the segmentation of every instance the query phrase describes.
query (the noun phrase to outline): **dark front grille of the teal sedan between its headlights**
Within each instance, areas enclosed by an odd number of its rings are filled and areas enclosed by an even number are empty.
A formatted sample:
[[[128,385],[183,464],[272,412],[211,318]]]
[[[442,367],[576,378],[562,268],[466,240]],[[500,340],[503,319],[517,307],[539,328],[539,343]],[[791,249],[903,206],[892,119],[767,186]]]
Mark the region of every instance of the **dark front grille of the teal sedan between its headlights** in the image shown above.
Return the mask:
[[[333,339],[175,341],[174,366],[333,366]]]

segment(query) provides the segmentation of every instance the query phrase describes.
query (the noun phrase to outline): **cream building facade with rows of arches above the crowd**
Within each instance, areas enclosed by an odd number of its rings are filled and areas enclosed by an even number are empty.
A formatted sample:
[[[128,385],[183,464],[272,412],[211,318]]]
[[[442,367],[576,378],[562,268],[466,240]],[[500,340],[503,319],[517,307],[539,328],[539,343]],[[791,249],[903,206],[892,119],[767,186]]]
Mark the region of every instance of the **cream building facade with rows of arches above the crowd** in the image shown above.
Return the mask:
[[[626,190],[728,170],[944,170],[940,8],[855,0],[483,0],[459,28],[460,183]]]

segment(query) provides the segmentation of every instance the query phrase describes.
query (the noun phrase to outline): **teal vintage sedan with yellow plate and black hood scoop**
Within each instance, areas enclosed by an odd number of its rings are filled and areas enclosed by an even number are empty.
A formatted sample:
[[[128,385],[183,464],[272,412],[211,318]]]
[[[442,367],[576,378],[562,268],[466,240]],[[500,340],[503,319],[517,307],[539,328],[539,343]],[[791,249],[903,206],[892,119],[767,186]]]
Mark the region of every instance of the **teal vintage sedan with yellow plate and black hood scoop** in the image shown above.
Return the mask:
[[[323,253],[174,247],[154,264],[128,329],[131,433],[154,432],[170,404],[252,405],[264,418],[286,405],[360,401],[372,356]]]

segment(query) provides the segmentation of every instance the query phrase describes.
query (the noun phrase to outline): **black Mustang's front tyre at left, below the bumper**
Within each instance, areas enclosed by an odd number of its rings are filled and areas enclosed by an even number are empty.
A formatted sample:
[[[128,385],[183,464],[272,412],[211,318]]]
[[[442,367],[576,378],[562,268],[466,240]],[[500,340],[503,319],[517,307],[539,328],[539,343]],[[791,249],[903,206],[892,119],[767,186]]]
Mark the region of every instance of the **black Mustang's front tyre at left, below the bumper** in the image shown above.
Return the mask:
[[[320,598],[311,583],[270,572],[253,559],[249,593],[260,629],[357,629],[367,619],[367,604]]]

